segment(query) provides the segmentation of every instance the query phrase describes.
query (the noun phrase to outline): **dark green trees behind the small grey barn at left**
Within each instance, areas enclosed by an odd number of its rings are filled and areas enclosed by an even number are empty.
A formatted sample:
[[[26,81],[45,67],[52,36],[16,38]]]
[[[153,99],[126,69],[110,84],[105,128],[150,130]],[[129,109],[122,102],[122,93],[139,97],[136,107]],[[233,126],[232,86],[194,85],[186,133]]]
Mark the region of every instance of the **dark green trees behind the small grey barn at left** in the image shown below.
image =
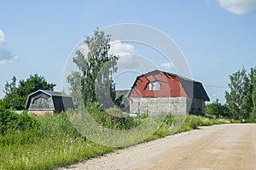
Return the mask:
[[[28,94],[32,94],[38,89],[54,90],[55,84],[49,83],[44,77],[38,74],[31,75],[26,80],[20,80],[16,83],[16,77],[12,78],[12,82],[6,82],[3,92],[3,105],[11,110],[24,110]]]

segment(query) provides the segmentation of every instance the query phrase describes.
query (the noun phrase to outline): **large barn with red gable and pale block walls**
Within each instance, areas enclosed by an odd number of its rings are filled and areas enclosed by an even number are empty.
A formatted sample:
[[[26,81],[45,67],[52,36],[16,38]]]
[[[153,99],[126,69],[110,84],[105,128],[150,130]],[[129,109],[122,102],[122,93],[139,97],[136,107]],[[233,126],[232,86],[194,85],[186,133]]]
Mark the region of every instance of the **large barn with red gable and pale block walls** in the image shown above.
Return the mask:
[[[201,82],[159,70],[137,77],[129,98],[130,113],[148,115],[204,115],[205,102],[210,101]]]

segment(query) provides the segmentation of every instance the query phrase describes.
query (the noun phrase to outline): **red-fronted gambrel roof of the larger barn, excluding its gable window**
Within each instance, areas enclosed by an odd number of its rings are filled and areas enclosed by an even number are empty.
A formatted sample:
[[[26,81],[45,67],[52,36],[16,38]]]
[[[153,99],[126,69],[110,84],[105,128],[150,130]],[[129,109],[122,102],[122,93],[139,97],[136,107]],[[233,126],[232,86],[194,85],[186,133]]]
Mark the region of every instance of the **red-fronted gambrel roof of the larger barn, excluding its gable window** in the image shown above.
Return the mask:
[[[148,84],[155,81],[165,84],[165,89],[155,92],[148,91]],[[167,92],[168,88],[170,91]],[[210,100],[201,82],[159,70],[150,71],[137,77],[130,93],[130,97],[169,97],[168,95],[170,97],[187,96],[189,99]]]

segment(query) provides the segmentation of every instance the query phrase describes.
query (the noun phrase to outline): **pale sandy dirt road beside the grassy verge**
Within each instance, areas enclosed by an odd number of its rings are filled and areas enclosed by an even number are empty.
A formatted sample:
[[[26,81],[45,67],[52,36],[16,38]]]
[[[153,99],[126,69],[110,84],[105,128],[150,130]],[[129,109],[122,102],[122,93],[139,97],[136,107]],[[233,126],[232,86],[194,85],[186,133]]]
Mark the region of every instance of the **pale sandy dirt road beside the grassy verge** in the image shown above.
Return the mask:
[[[75,169],[256,169],[256,124],[200,127],[73,165]]]

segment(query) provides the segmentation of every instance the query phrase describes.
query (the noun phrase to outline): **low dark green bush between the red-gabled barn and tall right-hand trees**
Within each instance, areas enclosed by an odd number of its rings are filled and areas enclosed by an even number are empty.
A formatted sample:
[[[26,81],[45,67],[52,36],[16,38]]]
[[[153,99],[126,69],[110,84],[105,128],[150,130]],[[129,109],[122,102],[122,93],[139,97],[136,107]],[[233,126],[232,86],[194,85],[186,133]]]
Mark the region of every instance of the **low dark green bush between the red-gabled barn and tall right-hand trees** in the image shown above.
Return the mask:
[[[206,115],[216,116],[217,118],[229,117],[230,111],[226,105],[221,105],[221,103],[218,102],[218,99],[216,99],[212,104],[206,105]]]

